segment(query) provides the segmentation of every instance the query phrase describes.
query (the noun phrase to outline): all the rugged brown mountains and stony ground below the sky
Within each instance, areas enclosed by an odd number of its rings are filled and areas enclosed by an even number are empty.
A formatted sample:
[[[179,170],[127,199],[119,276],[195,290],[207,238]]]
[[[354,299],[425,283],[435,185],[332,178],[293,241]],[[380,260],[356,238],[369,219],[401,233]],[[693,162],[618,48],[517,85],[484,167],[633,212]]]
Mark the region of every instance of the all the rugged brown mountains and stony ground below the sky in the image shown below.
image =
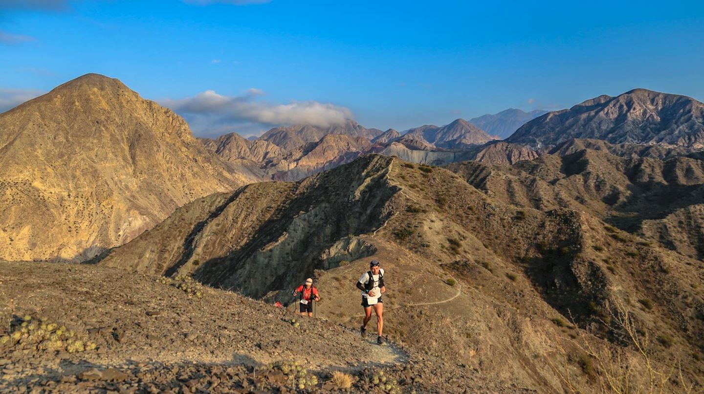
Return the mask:
[[[0,390],[701,391],[701,108],[196,139],[118,80],[66,82],[0,114]],[[359,336],[372,259],[386,346]]]

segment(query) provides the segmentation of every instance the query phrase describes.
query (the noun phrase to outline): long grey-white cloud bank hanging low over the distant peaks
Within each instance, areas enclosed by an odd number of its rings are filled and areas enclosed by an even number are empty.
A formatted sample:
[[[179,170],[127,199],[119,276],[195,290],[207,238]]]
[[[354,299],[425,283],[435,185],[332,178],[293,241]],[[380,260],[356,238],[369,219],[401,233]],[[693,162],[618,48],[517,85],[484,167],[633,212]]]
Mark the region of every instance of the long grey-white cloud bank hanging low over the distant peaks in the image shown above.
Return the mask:
[[[345,107],[318,101],[291,101],[288,104],[256,101],[264,94],[256,88],[233,97],[206,90],[194,97],[160,102],[186,118],[191,128],[200,133],[291,124],[327,127],[353,118],[351,111]]]

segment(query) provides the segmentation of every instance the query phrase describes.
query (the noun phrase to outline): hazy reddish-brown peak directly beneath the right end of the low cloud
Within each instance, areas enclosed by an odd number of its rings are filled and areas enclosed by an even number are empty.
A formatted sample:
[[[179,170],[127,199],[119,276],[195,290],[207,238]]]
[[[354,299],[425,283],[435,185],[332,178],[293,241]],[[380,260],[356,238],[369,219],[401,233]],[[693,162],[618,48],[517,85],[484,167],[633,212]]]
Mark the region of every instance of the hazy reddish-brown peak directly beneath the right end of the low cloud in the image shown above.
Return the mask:
[[[351,137],[365,137],[367,140],[382,135],[382,130],[375,128],[365,128],[355,121],[348,120],[344,125],[333,125],[328,128],[320,128],[313,125],[292,125],[272,128],[264,133],[259,140],[264,140],[276,144],[284,150],[301,147],[308,142],[318,142],[327,134],[344,134]]]

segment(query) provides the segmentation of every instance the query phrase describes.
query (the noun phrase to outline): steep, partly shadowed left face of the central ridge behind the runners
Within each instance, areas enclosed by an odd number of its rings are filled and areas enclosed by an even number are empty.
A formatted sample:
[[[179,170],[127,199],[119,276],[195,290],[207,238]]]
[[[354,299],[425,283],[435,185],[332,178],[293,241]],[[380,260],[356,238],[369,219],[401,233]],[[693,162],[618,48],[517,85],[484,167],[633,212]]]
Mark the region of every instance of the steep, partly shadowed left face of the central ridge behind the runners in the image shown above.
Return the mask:
[[[392,160],[367,156],[298,183],[259,183],[199,199],[101,264],[194,273],[204,283],[253,297],[290,287],[314,269],[348,258],[341,250],[348,256],[372,250],[339,240],[384,222],[396,192],[386,181]]]

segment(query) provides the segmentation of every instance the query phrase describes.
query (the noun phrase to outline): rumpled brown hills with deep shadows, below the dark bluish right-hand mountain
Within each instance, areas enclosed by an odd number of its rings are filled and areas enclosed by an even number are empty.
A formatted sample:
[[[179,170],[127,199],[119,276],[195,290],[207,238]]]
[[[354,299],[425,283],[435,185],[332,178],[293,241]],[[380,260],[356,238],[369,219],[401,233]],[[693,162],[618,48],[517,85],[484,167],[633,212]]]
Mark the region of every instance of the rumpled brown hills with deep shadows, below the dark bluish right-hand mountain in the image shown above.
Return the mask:
[[[704,161],[631,148],[572,140],[552,154],[513,166],[466,162],[448,168],[517,207],[586,211],[649,242],[703,259]]]

